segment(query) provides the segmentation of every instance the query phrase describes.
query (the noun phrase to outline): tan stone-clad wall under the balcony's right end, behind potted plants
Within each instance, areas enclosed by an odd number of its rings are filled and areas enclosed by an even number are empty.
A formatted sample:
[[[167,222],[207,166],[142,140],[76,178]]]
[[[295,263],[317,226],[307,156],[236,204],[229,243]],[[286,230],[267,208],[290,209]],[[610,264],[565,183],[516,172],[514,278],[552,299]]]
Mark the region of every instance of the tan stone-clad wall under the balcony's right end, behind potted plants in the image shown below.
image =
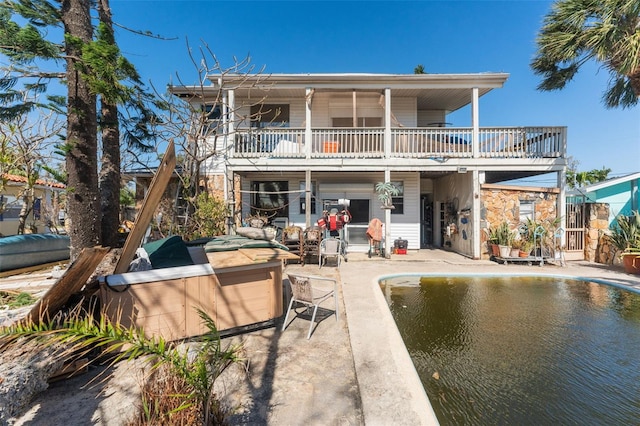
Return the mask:
[[[558,193],[559,190],[556,188],[482,185],[480,188],[482,258],[489,258],[486,244],[489,229],[497,228],[503,221],[507,221],[512,230],[520,224],[520,200],[535,201],[536,221],[553,221],[558,216],[556,212]]]

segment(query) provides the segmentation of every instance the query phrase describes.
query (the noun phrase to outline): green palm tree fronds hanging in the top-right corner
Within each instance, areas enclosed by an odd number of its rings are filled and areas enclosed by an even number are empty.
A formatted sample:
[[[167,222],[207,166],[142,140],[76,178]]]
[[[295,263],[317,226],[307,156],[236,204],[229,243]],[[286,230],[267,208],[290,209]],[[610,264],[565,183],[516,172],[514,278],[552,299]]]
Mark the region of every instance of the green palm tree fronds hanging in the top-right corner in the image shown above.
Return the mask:
[[[640,97],[640,1],[558,0],[544,19],[531,67],[539,90],[565,87],[590,60],[609,71],[607,108],[627,108]]]

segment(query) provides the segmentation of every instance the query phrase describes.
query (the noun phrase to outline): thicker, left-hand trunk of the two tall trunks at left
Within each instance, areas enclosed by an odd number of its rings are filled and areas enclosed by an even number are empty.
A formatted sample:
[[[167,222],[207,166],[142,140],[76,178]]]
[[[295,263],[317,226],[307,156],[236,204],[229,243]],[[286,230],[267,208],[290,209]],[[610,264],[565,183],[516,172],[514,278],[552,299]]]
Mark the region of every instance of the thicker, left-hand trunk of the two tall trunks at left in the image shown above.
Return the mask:
[[[84,43],[92,39],[89,0],[63,0],[65,34]],[[98,141],[96,97],[76,69],[81,57],[79,43],[65,43],[67,56],[67,212],[71,221],[71,259],[80,250],[100,243],[100,199],[98,192]]]

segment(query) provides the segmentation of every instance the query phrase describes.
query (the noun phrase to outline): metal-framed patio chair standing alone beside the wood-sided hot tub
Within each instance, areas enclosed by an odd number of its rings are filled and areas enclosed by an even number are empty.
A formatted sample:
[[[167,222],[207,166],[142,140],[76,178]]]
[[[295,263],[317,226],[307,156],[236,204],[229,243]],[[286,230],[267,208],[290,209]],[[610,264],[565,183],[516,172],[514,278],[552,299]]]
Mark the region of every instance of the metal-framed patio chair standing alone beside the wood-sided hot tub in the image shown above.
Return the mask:
[[[294,302],[304,305],[306,311],[313,308],[313,315],[311,316],[311,324],[309,324],[307,339],[311,338],[311,332],[313,331],[313,325],[316,321],[318,306],[329,297],[333,297],[335,302],[336,321],[338,321],[338,298],[336,296],[337,281],[335,279],[312,275],[287,274],[287,276],[289,277],[289,283],[291,284],[291,302],[289,302],[289,308],[287,309],[287,314],[284,317],[282,331],[287,328],[289,313],[291,312],[291,308],[293,308]],[[294,312],[296,317],[300,315],[295,309]],[[291,322],[293,322],[293,320],[291,320]]]

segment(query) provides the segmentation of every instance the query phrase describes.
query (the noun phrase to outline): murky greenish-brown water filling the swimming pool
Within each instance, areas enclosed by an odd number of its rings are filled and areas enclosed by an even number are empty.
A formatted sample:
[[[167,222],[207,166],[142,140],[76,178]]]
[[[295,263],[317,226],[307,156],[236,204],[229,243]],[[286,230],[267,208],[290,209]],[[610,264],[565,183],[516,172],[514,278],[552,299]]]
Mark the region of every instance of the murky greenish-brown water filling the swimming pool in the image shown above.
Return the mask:
[[[639,424],[640,294],[537,277],[380,285],[441,424]]]

